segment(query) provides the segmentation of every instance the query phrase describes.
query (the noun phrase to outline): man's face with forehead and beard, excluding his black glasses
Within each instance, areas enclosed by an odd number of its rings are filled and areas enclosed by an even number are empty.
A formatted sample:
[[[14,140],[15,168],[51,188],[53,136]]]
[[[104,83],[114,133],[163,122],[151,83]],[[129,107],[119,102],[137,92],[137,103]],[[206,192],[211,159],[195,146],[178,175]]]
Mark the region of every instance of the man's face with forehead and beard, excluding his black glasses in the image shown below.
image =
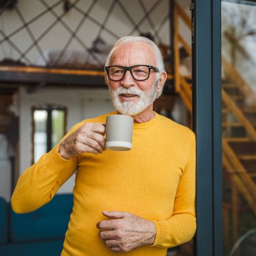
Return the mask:
[[[133,65],[156,64],[152,46],[144,42],[127,42],[119,46],[113,53],[109,65],[130,67]],[[150,77],[145,81],[133,79],[127,71],[121,81],[106,79],[110,96],[115,108],[123,115],[137,115],[151,106],[158,92],[157,73],[150,71]]]

